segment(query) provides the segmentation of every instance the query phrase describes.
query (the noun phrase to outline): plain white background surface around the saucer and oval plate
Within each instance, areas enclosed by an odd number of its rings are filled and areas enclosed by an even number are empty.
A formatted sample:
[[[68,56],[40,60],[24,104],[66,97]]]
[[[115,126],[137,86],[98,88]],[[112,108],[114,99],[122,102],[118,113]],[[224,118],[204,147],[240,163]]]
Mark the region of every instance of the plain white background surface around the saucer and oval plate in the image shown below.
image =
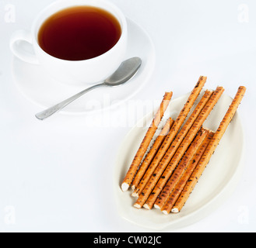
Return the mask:
[[[121,219],[112,191],[114,160],[130,126],[85,126],[96,116],[55,115],[39,122],[40,109],[12,79],[9,38],[30,29],[52,0],[0,0],[0,231],[150,232]],[[222,85],[240,105],[245,142],[244,173],[236,191],[211,215],[179,232],[254,232],[255,69],[254,0],[111,0],[139,23],[156,47],[156,70],[135,97],[161,99],[188,93],[200,75],[207,88]],[[6,8],[15,8],[15,19]],[[246,12],[244,12],[246,11]],[[121,107],[111,110],[120,115]],[[142,118],[142,116],[138,116]],[[168,229],[166,230],[168,232]]]

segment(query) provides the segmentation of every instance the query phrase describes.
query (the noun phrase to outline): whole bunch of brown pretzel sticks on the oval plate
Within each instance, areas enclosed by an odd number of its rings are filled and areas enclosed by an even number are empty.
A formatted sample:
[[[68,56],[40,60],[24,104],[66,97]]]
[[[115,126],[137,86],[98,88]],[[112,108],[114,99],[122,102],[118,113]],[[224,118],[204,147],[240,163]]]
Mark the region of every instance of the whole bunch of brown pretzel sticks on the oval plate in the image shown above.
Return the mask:
[[[132,196],[137,197],[135,208],[160,208],[164,214],[180,212],[209,164],[212,154],[237,112],[246,88],[241,86],[238,89],[219,129],[214,133],[203,124],[223,95],[223,87],[217,87],[215,91],[205,90],[195,110],[188,116],[206,80],[207,77],[199,78],[177,119],[168,119],[153,146],[149,147],[173,93],[166,93],[164,96],[121,184],[122,191],[128,191],[128,188],[132,187]],[[148,149],[149,153],[146,154]]]

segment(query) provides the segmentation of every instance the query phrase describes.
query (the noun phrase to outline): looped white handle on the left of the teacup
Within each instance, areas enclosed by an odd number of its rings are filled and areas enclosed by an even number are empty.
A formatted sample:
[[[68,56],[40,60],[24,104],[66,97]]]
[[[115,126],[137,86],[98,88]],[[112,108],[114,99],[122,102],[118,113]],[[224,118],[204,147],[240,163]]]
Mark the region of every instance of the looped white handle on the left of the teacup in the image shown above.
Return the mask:
[[[37,59],[36,54],[25,49],[24,43],[21,43],[21,41],[29,43],[31,50],[33,50],[32,36],[30,32],[26,30],[18,30],[13,33],[11,37],[10,48],[12,53],[20,60],[23,60],[27,63],[39,64],[39,60]]]

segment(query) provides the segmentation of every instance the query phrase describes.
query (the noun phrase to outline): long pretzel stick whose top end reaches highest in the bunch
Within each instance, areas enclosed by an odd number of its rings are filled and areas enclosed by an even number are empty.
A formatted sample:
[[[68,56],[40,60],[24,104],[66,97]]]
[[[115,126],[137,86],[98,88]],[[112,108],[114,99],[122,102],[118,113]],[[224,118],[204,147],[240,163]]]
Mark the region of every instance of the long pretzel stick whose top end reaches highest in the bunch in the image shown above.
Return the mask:
[[[140,181],[135,191],[132,193],[132,196],[139,197],[139,194],[142,192],[146,183],[149,181],[149,178],[152,176],[153,172],[155,171],[157,165],[160,163],[161,159],[164,157],[165,153],[169,149],[170,144],[174,141],[175,136],[177,136],[177,133],[181,129],[181,126],[183,125],[185,119],[187,118],[189,112],[191,111],[191,108],[195,104],[195,101],[198,98],[198,95],[202,91],[202,88],[205,85],[206,79],[207,77],[199,78],[199,81],[195,85],[195,88],[193,89],[193,91],[191,92],[191,95],[189,96],[187,102],[184,105],[184,108],[182,108],[180,114],[178,115],[176,121],[174,122],[174,126],[172,126],[170,133],[167,135],[158,153],[156,153],[156,157],[154,157],[153,161],[149,165],[149,168],[146,171],[146,174],[142,177],[142,180]]]

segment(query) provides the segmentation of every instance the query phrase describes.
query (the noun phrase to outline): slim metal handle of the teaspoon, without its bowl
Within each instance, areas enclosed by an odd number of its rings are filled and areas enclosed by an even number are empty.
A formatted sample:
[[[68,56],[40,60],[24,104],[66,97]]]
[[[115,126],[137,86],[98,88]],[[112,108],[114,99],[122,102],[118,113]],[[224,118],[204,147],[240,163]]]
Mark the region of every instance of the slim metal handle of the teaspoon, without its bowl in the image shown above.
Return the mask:
[[[47,119],[48,117],[53,115],[55,112],[60,111],[62,108],[65,108],[67,105],[74,102],[77,98],[80,98],[82,95],[85,95],[87,92],[93,91],[94,89],[100,88],[102,86],[107,86],[107,85],[103,83],[103,84],[93,85],[90,88],[86,88],[86,90],[81,91],[78,94],[73,95],[71,98],[68,98],[67,100],[65,100],[63,102],[58,103],[58,105],[54,105],[51,108],[47,108],[43,112],[37,113],[36,117],[37,117],[37,119],[40,119],[40,120]]]

